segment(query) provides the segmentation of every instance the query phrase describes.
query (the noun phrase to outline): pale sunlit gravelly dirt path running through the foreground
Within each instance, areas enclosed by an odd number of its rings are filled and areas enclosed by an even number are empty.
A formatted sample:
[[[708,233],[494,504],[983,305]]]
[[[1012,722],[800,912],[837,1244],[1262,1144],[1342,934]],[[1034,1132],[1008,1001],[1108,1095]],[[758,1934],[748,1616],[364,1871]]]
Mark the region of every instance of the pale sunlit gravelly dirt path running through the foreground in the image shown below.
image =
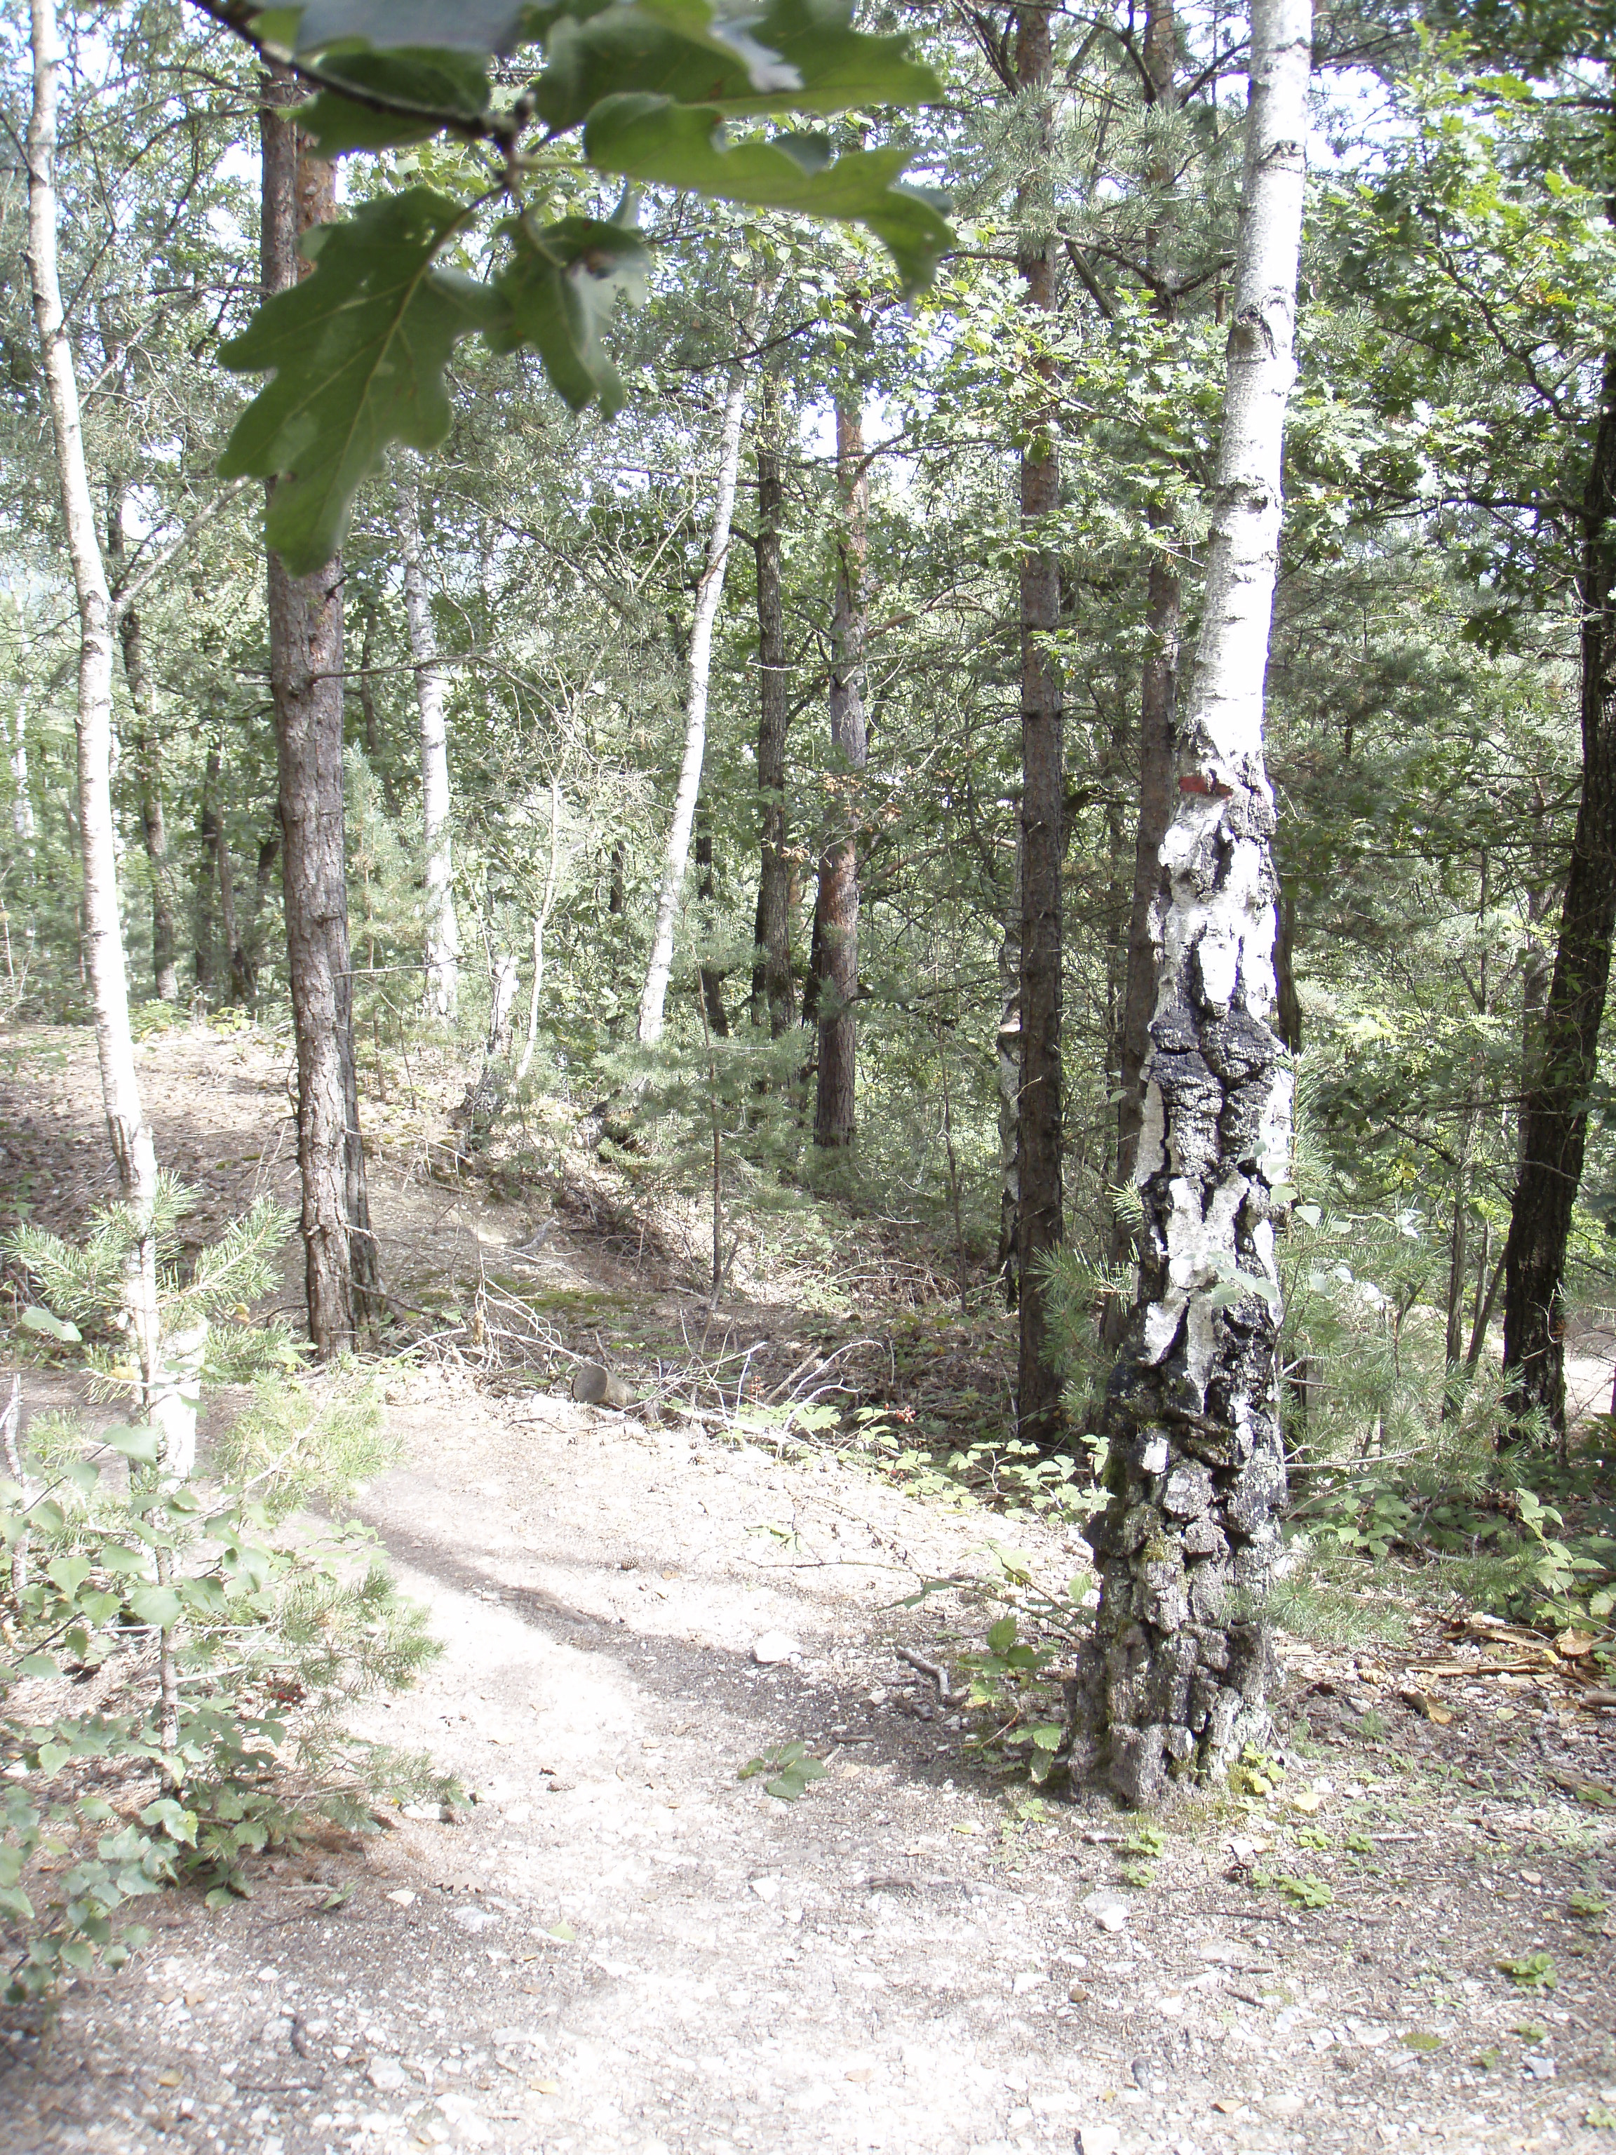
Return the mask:
[[[1616,1888],[1610,1713],[1519,1677],[1437,1726],[1403,1657],[1286,1646],[1284,1791],[1185,1806],[1127,1886],[1129,1821],[1023,1817],[894,1657],[980,1631],[898,1603],[983,1575],[987,1515],[433,1373],[390,1412],[364,1508],[446,1653],[364,1726],[478,1802],[164,1901],[47,2039],[4,2021],[6,2151],[1614,2144],[1610,1924],[1573,1911]],[[786,1739],[830,1767],[795,1804],[739,1778]],[[1500,1972],[1532,1952],[1551,1989]]]

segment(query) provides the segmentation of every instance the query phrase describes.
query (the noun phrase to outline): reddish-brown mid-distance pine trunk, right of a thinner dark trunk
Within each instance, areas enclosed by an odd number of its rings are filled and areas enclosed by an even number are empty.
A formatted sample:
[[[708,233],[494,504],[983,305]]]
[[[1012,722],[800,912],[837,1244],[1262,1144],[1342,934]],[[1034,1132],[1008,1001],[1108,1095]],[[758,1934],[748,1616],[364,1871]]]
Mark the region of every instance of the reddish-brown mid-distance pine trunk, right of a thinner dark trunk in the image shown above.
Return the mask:
[[[862,787],[858,771],[868,756],[864,718],[864,638],[868,606],[864,578],[870,532],[870,474],[864,461],[864,420],[836,405],[836,489],[842,528],[836,560],[830,662],[830,832],[819,858],[814,942],[819,974],[819,1084],[814,1144],[853,1142],[858,1110],[858,830]]]

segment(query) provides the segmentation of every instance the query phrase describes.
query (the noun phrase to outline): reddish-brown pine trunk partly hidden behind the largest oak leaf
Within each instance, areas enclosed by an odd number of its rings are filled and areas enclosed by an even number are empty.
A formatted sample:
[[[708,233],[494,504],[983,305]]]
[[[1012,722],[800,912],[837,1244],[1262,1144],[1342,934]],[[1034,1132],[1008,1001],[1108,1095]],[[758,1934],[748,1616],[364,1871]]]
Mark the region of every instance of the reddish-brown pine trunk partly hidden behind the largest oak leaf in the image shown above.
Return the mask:
[[[299,88],[269,69],[261,108],[263,289],[310,265],[297,239],[332,213],[332,168],[308,155]],[[353,1345],[375,1308],[377,1263],[353,1065],[353,970],[343,834],[343,562],[293,578],[269,554],[269,685],[280,765],[287,972],[297,1034],[308,1336],[321,1358]]]

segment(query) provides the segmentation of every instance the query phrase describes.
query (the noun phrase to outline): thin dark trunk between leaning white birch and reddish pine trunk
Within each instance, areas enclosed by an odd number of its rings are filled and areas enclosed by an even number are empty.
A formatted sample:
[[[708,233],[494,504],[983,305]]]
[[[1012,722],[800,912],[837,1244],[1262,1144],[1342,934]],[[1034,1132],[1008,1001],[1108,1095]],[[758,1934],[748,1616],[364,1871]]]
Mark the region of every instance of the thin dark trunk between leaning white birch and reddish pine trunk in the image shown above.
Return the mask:
[[[756,965],[752,970],[752,1021],[769,1015],[769,1039],[791,1026],[791,862],[786,860],[786,612],[780,595],[780,394],[774,377],[763,377],[758,414],[758,810],[763,858],[758,862]]]

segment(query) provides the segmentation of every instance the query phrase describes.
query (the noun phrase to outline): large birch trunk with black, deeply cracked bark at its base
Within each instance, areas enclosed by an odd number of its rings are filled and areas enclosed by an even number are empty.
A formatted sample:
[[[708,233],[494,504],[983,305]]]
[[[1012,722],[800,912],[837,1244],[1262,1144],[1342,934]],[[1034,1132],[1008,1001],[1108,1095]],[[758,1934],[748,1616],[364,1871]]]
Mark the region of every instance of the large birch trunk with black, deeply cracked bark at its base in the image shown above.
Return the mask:
[[[1138,1185],[1140,1299],[1107,1394],[1101,1571],[1077,1705],[1095,1765],[1153,1802],[1267,1726],[1260,1616],[1284,1498],[1273,1190],[1291,1062],[1273,1030],[1263,679],[1306,181],[1308,0],[1254,0],[1245,175],[1196,677],[1161,847]],[[1239,1595],[1239,1599],[1237,1599]]]

